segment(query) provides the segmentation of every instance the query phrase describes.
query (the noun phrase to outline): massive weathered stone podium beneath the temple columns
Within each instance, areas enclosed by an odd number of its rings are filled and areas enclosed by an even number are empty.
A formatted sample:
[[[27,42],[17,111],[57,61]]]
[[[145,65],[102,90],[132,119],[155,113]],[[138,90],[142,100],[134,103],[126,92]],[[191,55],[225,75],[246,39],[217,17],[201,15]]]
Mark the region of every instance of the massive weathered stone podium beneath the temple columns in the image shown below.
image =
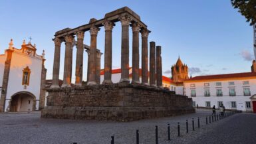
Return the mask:
[[[192,113],[192,99],[136,84],[50,89],[42,117],[134,121]]]

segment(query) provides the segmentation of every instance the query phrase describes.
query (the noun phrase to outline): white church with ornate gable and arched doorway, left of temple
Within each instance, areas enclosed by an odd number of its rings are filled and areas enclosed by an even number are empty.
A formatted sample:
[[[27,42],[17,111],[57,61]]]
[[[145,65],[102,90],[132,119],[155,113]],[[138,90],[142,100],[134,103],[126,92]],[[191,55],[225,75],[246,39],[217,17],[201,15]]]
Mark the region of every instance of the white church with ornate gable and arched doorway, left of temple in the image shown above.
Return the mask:
[[[0,54],[0,112],[35,111],[45,106],[45,52],[25,40],[21,49],[13,40]]]

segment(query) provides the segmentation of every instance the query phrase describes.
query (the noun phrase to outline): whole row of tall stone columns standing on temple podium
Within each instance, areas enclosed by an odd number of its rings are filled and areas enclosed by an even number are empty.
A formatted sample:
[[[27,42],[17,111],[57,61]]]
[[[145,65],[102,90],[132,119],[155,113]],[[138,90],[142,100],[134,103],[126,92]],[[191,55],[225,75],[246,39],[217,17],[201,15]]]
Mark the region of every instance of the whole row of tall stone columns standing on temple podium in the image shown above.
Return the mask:
[[[140,83],[140,54],[139,54],[139,33],[142,34],[142,84],[148,85],[148,35],[150,31],[142,28],[138,23],[130,22],[132,19],[128,15],[119,18],[122,24],[122,45],[121,45],[121,79],[120,82],[130,82],[129,80],[129,27],[132,27],[132,83]],[[102,23],[105,29],[105,54],[104,54],[104,81],[103,84],[112,84],[112,29],[114,23],[104,21]],[[90,28],[90,50],[88,52],[88,73],[87,84],[100,84],[100,56],[97,52],[96,42],[97,34],[100,29],[98,27]],[[78,31],[77,51],[76,51],[76,81],[77,86],[82,85],[82,67],[83,67],[83,40],[84,31]],[[72,76],[72,46],[74,36],[64,36],[66,48],[64,58],[64,78],[63,86],[70,86]],[[59,87],[59,65],[61,40],[55,38],[55,58],[53,66],[53,84],[52,88]],[[157,50],[156,50],[157,49]],[[157,57],[156,57],[157,56]],[[157,68],[157,76],[156,76]],[[150,42],[150,86],[162,86],[162,58],[161,47],[155,46],[155,42]],[[161,81],[161,82],[160,82]]]

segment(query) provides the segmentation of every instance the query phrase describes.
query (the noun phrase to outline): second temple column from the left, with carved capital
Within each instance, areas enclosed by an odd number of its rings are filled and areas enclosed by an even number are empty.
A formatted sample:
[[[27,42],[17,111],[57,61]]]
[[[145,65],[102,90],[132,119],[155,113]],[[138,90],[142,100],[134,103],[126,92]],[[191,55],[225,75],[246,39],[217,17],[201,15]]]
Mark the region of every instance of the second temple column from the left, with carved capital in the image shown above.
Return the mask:
[[[63,86],[70,87],[71,76],[72,76],[72,47],[74,46],[74,36],[66,35],[65,39],[65,58],[64,58],[64,75],[63,75]]]

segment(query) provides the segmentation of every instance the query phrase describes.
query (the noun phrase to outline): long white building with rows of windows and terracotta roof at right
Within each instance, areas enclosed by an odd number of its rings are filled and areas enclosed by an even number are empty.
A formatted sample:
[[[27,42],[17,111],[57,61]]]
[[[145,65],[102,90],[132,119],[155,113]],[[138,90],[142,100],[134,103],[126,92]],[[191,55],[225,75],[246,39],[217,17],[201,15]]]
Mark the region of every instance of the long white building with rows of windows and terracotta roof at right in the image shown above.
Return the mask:
[[[184,81],[184,94],[193,106],[253,111],[256,94],[256,72],[195,76]]]

